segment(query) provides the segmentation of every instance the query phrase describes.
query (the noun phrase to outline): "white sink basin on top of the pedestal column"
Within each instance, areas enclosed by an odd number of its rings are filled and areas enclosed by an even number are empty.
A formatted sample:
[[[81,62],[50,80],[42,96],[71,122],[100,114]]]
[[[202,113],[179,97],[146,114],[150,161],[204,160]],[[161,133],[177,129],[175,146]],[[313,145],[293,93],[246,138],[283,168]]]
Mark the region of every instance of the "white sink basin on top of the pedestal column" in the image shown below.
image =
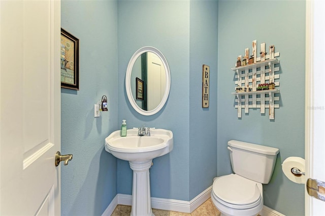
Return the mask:
[[[174,147],[173,133],[165,129],[150,129],[151,136],[138,136],[138,129],[127,130],[121,137],[115,131],[105,139],[105,150],[118,159],[143,161],[157,158],[171,152]]]

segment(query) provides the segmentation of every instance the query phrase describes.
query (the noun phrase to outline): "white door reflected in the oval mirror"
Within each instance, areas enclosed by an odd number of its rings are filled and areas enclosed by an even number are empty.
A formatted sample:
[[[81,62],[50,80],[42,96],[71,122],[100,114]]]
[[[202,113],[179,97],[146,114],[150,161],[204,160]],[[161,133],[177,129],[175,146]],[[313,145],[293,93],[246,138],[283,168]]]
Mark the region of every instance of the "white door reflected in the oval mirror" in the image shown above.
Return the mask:
[[[166,72],[163,62],[152,52],[147,52],[147,80],[147,110],[153,110],[164,97]]]

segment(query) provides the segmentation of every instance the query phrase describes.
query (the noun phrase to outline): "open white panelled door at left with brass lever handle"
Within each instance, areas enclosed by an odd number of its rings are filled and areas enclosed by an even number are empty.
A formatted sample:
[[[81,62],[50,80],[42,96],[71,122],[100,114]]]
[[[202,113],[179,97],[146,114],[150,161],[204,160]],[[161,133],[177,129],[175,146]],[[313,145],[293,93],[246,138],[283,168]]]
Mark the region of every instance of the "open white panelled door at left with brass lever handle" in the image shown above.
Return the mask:
[[[0,215],[60,215],[60,2],[0,16]]]

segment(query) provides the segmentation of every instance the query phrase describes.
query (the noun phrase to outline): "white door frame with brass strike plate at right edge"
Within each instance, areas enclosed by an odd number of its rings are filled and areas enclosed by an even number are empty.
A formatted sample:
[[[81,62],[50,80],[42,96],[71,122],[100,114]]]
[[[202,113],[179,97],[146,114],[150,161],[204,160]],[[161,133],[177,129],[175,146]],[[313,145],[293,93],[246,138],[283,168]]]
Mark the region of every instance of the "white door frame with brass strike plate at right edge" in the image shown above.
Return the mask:
[[[325,1],[306,1],[306,177],[320,181],[325,181],[324,11]],[[324,214],[325,201],[305,191],[305,215]]]

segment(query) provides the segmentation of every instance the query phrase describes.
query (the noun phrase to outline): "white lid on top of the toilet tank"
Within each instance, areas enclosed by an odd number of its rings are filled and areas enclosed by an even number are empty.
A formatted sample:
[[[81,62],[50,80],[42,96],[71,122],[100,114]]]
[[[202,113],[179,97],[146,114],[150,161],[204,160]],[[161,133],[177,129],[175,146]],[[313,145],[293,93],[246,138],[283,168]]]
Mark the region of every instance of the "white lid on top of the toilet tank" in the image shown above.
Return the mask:
[[[243,150],[262,153],[265,155],[277,155],[279,153],[278,148],[273,148],[265,145],[257,145],[257,144],[242,142],[238,140],[230,140],[228,141],[228,145],[234,148],[240,148]]]

